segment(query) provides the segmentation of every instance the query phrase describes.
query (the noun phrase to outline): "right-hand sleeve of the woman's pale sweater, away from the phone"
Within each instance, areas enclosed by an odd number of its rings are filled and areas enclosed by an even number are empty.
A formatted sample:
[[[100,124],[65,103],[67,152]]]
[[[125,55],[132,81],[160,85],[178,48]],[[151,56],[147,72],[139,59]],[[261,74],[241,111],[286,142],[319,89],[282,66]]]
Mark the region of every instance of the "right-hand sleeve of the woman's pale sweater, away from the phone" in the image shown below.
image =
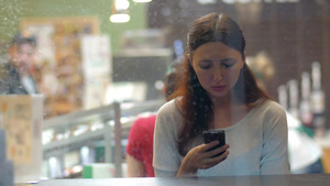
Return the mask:
[[[272,102],[265,108],[261,174],[289,174],[287,120],[283,108]]]

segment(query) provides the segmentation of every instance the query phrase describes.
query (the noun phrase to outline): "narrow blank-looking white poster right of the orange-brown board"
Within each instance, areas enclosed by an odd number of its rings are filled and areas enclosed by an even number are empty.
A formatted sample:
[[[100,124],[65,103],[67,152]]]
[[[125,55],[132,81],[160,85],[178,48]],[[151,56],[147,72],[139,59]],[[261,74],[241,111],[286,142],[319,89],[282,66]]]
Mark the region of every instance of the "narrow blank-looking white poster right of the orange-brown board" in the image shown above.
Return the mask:
[[[103,106],[112,73],[109,36],[84,35],[81,37],[81,56],[85,77],[84,109]]]

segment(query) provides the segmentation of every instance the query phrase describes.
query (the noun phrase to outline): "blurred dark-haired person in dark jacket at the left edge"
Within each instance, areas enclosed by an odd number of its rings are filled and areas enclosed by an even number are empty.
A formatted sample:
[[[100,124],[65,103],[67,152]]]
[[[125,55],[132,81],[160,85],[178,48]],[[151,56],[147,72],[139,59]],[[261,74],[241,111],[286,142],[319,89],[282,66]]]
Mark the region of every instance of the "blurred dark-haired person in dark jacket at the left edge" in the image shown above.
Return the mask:
[[[38,94],[31,69],[36,55],[36,39],[29,32],[16,34],[8,50],[8,63],[0,67],[1,95]]]

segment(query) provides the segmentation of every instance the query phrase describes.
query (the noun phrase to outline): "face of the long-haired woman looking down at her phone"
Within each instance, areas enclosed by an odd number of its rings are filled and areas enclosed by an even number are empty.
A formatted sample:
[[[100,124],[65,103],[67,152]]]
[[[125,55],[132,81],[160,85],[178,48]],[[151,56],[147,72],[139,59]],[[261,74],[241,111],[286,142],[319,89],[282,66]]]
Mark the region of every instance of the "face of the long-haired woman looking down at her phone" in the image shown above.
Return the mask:
[[[244,65],[240,52],[221,42],[199,46],[190,61],[201,86],[213,98],[229,95]]]

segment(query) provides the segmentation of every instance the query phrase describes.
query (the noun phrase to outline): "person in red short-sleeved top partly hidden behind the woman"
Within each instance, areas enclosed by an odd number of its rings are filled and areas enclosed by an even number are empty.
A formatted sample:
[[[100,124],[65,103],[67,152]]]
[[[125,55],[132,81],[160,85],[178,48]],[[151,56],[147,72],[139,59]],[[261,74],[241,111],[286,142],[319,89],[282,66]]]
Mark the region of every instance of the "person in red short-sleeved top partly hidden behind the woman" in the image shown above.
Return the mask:
[[[166,101],[172,95],[176,85],[178,62],[172,64],[164,78],[163,94]],[[134,121],[127,146],[127,163],[129,177],[154,177],[153,168],[153,141],[154,129],[156,122],[156,113],[150,116],[140,116]]]

